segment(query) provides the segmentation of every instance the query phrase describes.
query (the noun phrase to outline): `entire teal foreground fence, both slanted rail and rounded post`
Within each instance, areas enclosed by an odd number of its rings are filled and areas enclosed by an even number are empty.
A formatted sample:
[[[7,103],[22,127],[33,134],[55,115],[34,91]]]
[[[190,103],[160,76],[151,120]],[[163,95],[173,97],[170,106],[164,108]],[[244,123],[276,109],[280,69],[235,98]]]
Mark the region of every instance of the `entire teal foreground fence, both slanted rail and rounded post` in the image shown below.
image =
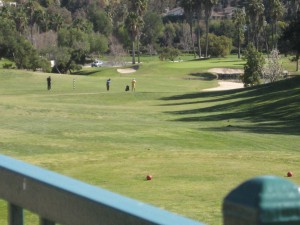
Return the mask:
[[[203,225],[3,155],[0,199],[8,202],[8,225],[24,225],[24,209],[40,225]],[[300,188],[282,177],[255,177],[224,198],[222,211],[223,225],[300,225]]]

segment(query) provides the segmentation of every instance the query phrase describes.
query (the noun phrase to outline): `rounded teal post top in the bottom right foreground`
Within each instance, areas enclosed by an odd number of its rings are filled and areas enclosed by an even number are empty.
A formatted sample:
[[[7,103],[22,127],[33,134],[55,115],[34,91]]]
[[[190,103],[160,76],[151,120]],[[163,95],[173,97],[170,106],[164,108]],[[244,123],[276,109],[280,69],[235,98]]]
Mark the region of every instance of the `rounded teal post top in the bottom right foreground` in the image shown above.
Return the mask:
[[[287,179],[260,176],[233,189],[223,202],[224,225],[299,225],[299,187]]]

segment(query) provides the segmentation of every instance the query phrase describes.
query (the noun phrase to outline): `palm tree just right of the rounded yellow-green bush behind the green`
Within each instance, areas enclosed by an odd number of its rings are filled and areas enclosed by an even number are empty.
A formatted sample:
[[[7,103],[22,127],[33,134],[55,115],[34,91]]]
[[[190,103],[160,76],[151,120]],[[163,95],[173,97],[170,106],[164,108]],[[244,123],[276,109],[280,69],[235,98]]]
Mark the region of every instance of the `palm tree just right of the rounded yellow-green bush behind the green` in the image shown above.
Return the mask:
[[[236,8],[232,15],[233,23],[237,29],[238,37],[238,58],[241,58],[241,42],[244,39],[244,27],[246,24],[246,13],[244,8]]]

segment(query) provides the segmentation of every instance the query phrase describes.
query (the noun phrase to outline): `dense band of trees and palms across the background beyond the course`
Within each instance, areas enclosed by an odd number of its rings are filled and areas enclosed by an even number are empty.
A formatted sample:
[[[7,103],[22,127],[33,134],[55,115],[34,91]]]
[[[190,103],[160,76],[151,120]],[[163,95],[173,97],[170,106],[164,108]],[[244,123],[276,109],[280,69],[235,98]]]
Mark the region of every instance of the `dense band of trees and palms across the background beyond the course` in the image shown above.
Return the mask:
[[[293,52],[299,60],[299,0],[18,0],[0,7],[0,57],[17,68],[72,73],[94,58],[179,52],[195,58]],[[167,14],[181,7],[181,15]],[[214,13],[232,15],[214,19]],[[297,31],[298,29],[298,31]],[[297,33],[298,32],[298,33]],[[292,38],[293,39],[292,39]],[[55,61],[51,69],[49,60]]]

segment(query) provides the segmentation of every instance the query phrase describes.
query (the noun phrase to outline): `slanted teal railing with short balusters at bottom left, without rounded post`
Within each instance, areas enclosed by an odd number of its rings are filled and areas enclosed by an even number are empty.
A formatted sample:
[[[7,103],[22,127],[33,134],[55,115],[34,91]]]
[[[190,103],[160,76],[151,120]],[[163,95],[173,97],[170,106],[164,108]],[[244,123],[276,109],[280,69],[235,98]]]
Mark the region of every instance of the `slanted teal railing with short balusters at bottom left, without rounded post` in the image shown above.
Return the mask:
[[[40,225],[203,225],[4,155],[0,198],[8,202],[8,225],[24,225],[24,209]]]

